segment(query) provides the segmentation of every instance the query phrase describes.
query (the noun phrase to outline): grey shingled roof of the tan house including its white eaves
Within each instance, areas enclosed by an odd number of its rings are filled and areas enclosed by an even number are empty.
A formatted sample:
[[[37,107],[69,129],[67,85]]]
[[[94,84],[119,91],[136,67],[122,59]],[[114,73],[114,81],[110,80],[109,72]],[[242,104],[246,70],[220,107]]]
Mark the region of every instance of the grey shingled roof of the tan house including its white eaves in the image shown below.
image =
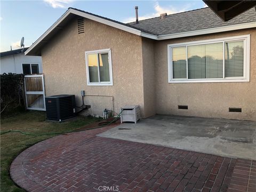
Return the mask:
[[[163,40],[194,35],[203,35],[256,27],[256,12],[250,9],[230,21],[222,21],[210,8],[167,15],[166,18],[151,18],[122,23],[100,15],[69,8],[37,41],[25,52],[27,55],[41,55],[41,48],[76,16],[91,19],[129,33],[155,40]]]

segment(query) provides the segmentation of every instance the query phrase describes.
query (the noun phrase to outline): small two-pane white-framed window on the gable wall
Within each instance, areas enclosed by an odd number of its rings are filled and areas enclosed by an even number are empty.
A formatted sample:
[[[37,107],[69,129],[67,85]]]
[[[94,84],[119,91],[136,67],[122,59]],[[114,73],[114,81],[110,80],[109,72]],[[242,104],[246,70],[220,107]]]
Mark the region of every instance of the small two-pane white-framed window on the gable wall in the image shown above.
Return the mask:
[[[87,85],[113,85],[111,49],[85,51]]]

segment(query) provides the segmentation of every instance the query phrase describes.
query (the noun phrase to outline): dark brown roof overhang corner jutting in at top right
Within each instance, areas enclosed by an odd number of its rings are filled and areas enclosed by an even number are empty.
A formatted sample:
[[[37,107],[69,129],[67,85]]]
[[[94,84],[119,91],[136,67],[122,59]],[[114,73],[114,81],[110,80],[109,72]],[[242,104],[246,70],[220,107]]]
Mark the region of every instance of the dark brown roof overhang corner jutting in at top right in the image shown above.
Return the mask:
[[[206,1],[203,0],[223,21],[228,21],[238,14],[251,9],[256,1]]]

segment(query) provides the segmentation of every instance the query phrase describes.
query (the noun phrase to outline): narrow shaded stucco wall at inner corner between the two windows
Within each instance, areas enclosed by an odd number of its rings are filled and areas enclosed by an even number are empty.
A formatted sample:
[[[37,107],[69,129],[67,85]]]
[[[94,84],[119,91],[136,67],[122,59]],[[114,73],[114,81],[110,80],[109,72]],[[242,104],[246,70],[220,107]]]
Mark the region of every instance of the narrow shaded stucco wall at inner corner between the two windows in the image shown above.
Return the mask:
[[[142,38],[143,95],[146,117],[156,114],[155,41]]]

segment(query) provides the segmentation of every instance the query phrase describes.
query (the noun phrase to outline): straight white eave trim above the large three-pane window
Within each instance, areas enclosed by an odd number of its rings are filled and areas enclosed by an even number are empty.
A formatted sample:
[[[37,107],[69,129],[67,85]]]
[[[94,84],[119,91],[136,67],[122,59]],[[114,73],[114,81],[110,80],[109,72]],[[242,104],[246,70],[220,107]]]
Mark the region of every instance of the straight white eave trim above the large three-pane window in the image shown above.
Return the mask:
[[[220,33],[223,31],[231,31],[231,30],[246,29],[246,28],[253,28],[253,27],[256,27],[256,22],[240,23],[240,24],[235,24],[235,25],[186,31],[186,32],[174,33],[174,34],[168,34],[168,35],[158,35],[157,40],[196,36],[196,35],[205,35],[205,34],[212,34],[212,33]]]

